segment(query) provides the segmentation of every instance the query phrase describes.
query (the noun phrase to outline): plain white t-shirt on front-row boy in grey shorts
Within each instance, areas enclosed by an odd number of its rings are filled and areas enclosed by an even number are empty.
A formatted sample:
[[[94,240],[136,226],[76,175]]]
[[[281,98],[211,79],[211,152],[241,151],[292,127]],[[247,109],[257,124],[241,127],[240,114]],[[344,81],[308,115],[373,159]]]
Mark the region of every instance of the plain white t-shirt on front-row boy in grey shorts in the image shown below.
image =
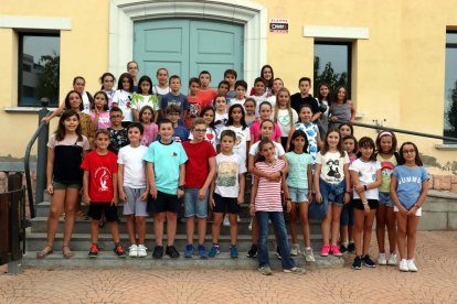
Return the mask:
[[[129,145],[123,146],[117,154],[117,163],[124,165],[124,185],[130,188],[146,187],[145,156],[148,148],[139,145],[137,148]]]

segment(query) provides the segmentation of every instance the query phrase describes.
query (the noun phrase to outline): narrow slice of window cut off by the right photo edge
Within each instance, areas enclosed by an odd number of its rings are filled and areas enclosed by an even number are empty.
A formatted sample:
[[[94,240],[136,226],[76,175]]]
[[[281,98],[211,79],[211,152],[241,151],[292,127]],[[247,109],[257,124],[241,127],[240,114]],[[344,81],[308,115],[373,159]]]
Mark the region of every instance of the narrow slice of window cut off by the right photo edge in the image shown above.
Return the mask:
[[[444,137],[457,138],[457,32],[446,33]],[[449,142],[455,143],[455,142]]]

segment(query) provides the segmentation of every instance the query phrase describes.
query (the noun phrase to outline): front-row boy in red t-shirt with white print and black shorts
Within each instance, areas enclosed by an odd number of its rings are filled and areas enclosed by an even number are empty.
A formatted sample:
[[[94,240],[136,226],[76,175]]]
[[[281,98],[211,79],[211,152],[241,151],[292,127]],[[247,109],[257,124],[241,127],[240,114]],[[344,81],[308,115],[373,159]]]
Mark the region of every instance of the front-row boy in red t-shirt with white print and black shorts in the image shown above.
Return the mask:
[[[92,218],[92,245],[88,256],[89,258],[98,257],[98,222],[102,214],[105,213],[115,242],[114,252],[117,257],[125,258],[126,253],[120,246],[117,226],[117,158],[108,151],[109,132],[107,130],[95,132],[94,143],[96,149],[84,158],[81,165],[84,170],[83,202],[91,204],[88,216]]]

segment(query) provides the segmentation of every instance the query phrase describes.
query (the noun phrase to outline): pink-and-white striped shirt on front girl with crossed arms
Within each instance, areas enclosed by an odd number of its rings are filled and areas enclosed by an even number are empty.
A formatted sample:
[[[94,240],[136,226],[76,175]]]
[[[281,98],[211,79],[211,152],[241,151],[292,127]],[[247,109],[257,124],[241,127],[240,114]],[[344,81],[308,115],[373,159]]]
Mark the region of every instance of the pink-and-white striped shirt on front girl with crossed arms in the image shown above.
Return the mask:
[[[276,160],[274,165],[258,162],[255,166],[265,173],[275,173],[285,167],[285,162],[283,160]],[[281,180],[276,182],[269,181],[265,177],[259,177],[257,195],[255,197],[256,211],[283,211],[280,183]]]

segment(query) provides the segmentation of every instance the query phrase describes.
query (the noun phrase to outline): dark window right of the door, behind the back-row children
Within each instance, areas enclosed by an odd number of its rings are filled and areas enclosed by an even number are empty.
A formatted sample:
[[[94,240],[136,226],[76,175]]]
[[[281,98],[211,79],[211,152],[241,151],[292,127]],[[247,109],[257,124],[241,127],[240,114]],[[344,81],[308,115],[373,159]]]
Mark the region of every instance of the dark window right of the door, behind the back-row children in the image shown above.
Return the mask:
[[[348,89],[351,97],[351,43],[316,42],[315,43],[315,96],[319,84],[327,83],[333,93],[338,86]]]

